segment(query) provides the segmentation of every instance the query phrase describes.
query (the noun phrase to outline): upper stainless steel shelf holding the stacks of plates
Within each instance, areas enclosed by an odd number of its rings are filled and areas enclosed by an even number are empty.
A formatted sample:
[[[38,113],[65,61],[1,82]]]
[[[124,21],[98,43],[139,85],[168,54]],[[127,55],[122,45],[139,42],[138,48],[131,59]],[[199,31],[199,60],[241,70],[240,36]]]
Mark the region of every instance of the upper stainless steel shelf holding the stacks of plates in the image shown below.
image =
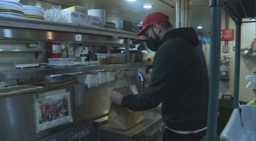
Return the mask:
[[[0,15],[0,39],[123,43],[143,39],[136,33],[78,23]]]

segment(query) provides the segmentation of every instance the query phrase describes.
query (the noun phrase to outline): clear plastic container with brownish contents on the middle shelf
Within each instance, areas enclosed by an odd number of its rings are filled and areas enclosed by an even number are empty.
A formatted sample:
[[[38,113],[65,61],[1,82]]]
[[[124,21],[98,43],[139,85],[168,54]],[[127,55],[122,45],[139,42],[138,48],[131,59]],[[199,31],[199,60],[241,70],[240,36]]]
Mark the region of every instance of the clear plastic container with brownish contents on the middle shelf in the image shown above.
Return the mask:
[[[96,53],[98,63],[124,63],[125,54],[123,53]]]

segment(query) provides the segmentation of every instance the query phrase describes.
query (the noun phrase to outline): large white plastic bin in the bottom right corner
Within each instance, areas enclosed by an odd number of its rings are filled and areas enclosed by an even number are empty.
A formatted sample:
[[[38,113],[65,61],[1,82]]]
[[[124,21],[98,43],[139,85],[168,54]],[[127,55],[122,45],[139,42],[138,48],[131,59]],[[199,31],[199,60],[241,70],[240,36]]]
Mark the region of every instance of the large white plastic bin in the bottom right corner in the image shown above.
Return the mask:
[[[240,105],[241,116],[235,108],[220,134],[220,140],[256,140],[256,105]],[[242,126],[242,124],[243,126]]]

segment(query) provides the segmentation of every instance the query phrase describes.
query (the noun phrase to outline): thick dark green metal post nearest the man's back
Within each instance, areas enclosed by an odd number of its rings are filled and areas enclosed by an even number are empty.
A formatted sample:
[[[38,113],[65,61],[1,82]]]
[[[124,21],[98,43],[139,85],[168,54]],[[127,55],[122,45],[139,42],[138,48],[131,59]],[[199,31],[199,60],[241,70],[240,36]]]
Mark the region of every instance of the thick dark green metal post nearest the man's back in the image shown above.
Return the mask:
[[[209,71],[209,102],[207,116],[206,140],[216,140],[218,114],[218,88],[220,64],[220,27],[221,6],[213,5],[211,9],[211,42],[210,42],[210,71]]]

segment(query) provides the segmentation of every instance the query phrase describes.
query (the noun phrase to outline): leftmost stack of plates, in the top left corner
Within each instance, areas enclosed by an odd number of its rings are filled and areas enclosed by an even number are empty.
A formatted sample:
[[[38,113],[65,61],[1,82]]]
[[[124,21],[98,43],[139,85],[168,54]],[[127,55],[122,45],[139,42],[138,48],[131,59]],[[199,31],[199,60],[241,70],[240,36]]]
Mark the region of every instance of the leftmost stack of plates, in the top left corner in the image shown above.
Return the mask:
[[[0,0],[0,14],[24,16],[22,4],[13,0]]]

